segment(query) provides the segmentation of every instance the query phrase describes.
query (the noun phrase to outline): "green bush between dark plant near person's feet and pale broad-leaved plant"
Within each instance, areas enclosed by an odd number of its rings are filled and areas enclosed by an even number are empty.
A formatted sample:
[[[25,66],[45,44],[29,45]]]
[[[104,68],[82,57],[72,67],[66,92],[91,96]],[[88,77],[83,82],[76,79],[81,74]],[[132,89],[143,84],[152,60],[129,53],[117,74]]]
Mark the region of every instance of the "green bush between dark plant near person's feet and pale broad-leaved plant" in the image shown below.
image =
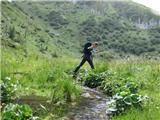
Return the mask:
[[[105,94],[113,96],[118,92],[130,91],[131,93],[138,93],[139,83],[132,78],[126,78],[123,75],[119,75],[113,71],[106,72],[106,78],[102,81],[100,88]]]

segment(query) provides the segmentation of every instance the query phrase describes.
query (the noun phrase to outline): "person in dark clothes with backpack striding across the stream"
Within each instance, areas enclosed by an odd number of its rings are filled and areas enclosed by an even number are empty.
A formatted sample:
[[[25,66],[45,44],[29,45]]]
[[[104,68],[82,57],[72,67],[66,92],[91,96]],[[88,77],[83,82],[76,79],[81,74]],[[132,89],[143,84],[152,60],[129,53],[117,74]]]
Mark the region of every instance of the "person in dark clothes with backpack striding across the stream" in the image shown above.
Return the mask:
[[[97,46],[98,46],[98,42],[93,42],[93,43],[88,42],[84,45],[82,61],[73,71],[74,77],[75,77],[75,75],[77,75],[78,70],[83,66],[83,64],[86,61],[89,63],[91,68],[94,69],[92,51],[93,51],[93,49],[97,48]]]

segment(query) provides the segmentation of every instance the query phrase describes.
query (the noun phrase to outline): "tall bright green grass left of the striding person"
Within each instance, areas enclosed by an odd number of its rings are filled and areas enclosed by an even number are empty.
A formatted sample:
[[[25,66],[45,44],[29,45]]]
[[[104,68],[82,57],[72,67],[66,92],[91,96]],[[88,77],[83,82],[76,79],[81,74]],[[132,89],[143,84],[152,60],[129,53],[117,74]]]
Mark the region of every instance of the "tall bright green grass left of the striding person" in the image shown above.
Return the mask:
[[[18,95],[36,94],[51,97],[54,86],[59,87],[57,94],[65,99],[67,94],[78,97],[79,88],[74,85],[71,71],[74,68],[75,60],[66,58],[48,58],[45,56],[30,55],[27,58],[15,57],[12,54],[3,54],[2,78],[11,77],[21,84]],[[58,93],[59,92],[59,93]],[[77,92],[77,93],[76,93]],[[72,94],[73,93],[73,94]],[[60,95],[62,94],[62,95]],[[52,98],[53,99],[53,98]]]

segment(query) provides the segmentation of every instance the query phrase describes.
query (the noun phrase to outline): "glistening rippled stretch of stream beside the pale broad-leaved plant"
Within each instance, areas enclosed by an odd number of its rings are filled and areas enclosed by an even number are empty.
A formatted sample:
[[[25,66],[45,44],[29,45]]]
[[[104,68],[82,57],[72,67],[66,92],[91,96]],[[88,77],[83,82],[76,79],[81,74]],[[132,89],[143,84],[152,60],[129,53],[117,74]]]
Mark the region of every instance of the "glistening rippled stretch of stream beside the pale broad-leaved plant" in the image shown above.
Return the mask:
[[[109,120],[106,114],[107,96],[88,87],[82,89],[82,100],[71,110],[69,120]]]

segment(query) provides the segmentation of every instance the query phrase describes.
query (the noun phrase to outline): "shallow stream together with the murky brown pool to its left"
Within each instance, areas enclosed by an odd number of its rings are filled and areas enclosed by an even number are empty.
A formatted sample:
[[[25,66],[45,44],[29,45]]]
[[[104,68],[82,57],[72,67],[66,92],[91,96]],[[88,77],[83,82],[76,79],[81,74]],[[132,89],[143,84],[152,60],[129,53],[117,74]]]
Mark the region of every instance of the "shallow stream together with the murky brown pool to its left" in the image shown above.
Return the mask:
[[[81,99],[75,105],[70,106],[70,111],[67,116],[58,120],[109,120],[106,113],[109,97],[95,89],[85,86],[82,87]],[[48,99],[42,96],[22,96],[17,99],[16,103],[25,103],[31,105],[36,110],[40,104],[48,108]],[[36,114],[36,113],[35,113]]]

